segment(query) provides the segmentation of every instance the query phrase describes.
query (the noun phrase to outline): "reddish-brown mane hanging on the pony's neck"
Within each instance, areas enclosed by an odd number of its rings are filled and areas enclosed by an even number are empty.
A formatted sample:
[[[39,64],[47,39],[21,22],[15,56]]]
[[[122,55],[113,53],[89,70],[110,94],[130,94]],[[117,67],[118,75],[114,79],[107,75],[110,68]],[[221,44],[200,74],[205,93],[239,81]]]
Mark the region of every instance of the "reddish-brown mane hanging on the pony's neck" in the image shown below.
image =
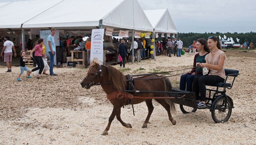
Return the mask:
[[[121,71],[111,65],[108,66],[108,81],[113,83],[119,93],[123,93],[127,86],[125,80],[126,77]]]

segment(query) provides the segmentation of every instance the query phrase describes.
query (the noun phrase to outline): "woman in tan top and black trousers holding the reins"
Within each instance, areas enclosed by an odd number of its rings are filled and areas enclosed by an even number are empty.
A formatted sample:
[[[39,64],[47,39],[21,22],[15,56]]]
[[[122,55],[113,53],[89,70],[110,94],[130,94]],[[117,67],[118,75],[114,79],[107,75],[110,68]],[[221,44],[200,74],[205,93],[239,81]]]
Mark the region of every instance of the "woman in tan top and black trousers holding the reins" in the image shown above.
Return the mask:
[[[220,41],[216,36],[208,38],[208,47],[211,53],[205,56],[206,63],[198,63],[200,67],[206,67],[209,71],[208,75],[198,76],[194,80],[193,91],[196,93],[197,100],[199,99],[199,92],[201,94],[200,102],[197,104],[198,108],[205,108],[206,86],[214,85],[216,83],[223,83],[225,81],[224,61],[226,54],[221,51]]]

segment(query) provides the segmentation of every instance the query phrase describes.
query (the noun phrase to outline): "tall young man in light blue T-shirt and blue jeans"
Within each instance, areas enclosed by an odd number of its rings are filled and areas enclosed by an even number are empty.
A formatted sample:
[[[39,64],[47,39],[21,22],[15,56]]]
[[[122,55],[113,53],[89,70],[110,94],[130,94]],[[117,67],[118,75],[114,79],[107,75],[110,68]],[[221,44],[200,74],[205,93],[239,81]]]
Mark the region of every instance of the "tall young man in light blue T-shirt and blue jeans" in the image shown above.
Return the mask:
[[[56,33],[56,29],[52,28],[51,29],[51,35],[48,36],[47,42],[48,42],[48,47],[47,51],[50,54],[50,76],[57,76],[57,74],[53,73],[53,64],[54,64],[54,56],[56,52],[56,46],[55,46],[55,41],[54,41],[54,35]]]

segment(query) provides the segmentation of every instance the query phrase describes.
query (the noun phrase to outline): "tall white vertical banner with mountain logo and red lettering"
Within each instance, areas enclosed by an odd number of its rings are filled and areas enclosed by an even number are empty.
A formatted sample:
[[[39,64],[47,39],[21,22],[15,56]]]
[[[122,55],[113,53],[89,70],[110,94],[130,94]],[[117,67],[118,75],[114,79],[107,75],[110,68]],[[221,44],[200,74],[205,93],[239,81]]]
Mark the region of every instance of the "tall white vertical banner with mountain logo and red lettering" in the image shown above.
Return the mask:
[[[90,62],[98,58],[99,64],[103,64],[103,36],[104,29],[92,29]]]

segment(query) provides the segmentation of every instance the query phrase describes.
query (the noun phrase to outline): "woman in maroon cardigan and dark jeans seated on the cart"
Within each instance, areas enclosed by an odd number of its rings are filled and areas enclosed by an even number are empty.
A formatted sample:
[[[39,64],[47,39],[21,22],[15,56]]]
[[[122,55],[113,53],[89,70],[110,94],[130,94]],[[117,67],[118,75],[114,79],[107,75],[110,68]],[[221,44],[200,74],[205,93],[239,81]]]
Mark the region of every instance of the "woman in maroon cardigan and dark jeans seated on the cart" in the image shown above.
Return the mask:
[[[198,49],[198,51],[200,51],[200,53],[197,53],[195,55],[193,67],[196,67],[197,63],[205,63],[205,56],[211,52],[207,45],[207,41],[203,38],[197,39],[195,46]],[[192,84],[195,77],[195,72],[196,76],[203,75],[202,68],[198,68],[197,70],[195,70],[195,68],[192,68],[191,72],[183,74],[180,77],[180,90],[185,90],[187,85],[186,90],[192,92]]]

